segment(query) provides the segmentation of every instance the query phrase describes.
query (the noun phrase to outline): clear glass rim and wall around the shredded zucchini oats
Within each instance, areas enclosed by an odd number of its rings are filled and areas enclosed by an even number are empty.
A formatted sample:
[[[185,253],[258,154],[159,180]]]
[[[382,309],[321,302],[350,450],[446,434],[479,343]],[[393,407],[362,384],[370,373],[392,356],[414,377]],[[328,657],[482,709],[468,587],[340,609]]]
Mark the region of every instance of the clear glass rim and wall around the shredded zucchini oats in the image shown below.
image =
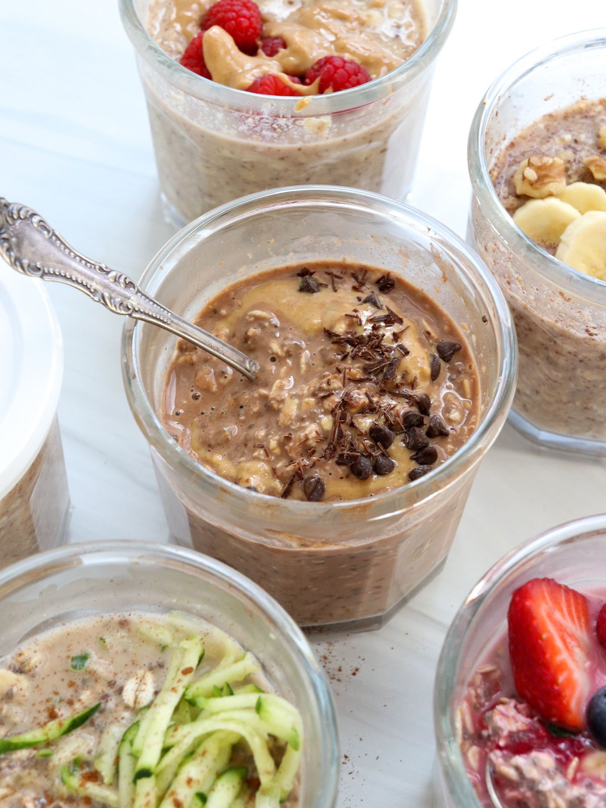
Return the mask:
[[[301,808],[334,808],[335,709],[322,668],[290,617],[263,590],[191,550],[143,541],[68,545],[0,572],[0,656],[25,638],[95,613],[178,609],[255,654],[268,682],[301,711]]]

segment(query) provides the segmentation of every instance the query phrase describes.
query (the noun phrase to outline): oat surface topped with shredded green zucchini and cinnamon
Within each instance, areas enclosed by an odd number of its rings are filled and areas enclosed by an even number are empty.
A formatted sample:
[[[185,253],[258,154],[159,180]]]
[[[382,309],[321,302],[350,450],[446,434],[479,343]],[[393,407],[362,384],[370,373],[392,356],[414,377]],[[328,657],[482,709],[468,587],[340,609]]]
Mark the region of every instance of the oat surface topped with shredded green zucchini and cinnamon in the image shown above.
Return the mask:
[[[301,716],[255,657],[181,612],[99,615],[0,661],[0,800],[299,805]]]

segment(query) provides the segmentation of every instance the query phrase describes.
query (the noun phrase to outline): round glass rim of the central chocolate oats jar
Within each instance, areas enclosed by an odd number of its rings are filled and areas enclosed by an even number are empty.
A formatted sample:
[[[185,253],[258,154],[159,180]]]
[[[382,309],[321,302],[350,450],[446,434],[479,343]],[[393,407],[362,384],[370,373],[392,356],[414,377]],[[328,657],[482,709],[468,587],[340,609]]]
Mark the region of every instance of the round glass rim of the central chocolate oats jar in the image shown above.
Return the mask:
[[[357,209],[364,209],[369,213],[389,215],[393,221],[399,221],[400,225],[411,226],[414,223],[419,228],[423,228],[424,232],[427,231],[427,234],[433,234],[436,241],[444,239],[444,242],[448,243],[449,249],[457,255],[460,266],[465,262],[468,267],[473,268],[476,284],[477,277],[479,276],[481,279],[485,289],[484,294],[490,298],[490,303],[497,314],[496,318],[493,318],[496,321],[493,327],[497,332],[501,356],[499,377],[492,393],[490,404],[486,409],[484,418],[473,431],[469,440],[448,461],[445,461],[431,473],[424,475],[419,480],[406,483],[405,486],[381,492],[372,498],[363,497],[331,503],[308,503],[304,500],[283,500],[270,497],[267,494],[260,494],[257,491],[247,490],[234,482],[221,478],[217,473],[196,461],[170,436],[141,384],[140,357],[138,356],[136,339],[141,331],[141,326],[137,324],[137,321],[130,318],[126,318],[124,322],[121,346],[123,381],[128,404],[146,440],[171,467],[177,464],[182,465],[187,474],[196,479],[196,482],[199,482],[200,485],[210,486],[217,496],[225,496],[228,501],[229,497],[235,497],[235,501],[238,503],[257,503],[260,497],[265,502],[271,500],[272,507],[276,508],[276,513],[279,512],[285,515],[288,512],[289,516],[300,518],[301,520],[318,520],[326,511],[330,511],[330,513],[358,511],[360,507],[368,507],[370,503],[377,509],[385,507],[385,513],[393,514],[398,511],[410,511],[410,502],[404,501],[404,494],[410,493],[410,501],[414,499],[415,507],[419,507],[422,503],[429,502],[436,494],[440,494],[448,486],[452,486],[470,463],[479,462],[483,452],[496,440],[499,432],[499,416],[503,414],[503,410],[507,410],[511,405],[515,389],[517,343],[507,302],[492,273],[478,258],[478,255],[470,250],[457,234],[432,217],[410,207],[410,205],[374,194],[371,191],[328,185],[276,188],[271,191],[261,191],[250,196],[243,196],[239,200],[221,205],[221,207],[205,213],[179,230],[179,233],[166,242],[166,245],[159,250],[145,269],[141,276],[141,288],[147,288],[149,281],[159,271],[162,271],[166,276],[163,263],[174,250],[181,246],[183,242],[187,242],[187,239],[194,236],[198,231],[209,230],[213,225],[224,224],[225,221],[229,221],[233,225],[234,221],[238,221],[238,217],[246,216],[247,213],[254,214],[270,208],[277,209],[294,205],[303,207],[313,204],[326,204],[328,207],[350,209],[357,206]],[[199,241],[196,243],[199,243]]]

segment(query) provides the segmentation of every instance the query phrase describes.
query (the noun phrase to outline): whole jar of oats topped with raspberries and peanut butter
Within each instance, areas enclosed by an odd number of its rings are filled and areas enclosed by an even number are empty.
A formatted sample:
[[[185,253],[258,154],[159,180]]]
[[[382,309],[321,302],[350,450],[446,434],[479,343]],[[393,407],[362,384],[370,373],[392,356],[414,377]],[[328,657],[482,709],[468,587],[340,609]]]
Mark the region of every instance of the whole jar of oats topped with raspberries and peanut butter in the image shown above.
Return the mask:
[[[121,0],[165,213],[267,187],[410,191],[456,0]]]

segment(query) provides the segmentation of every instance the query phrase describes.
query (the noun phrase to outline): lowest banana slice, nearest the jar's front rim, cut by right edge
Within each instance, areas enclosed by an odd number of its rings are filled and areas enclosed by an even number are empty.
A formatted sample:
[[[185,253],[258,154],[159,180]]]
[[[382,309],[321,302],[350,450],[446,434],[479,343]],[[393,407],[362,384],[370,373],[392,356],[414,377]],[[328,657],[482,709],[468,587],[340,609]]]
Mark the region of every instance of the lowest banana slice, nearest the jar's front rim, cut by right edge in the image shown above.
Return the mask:
[[[606,280],[606,211],[591,210],[568,225],[556,258],[573,269]]]

